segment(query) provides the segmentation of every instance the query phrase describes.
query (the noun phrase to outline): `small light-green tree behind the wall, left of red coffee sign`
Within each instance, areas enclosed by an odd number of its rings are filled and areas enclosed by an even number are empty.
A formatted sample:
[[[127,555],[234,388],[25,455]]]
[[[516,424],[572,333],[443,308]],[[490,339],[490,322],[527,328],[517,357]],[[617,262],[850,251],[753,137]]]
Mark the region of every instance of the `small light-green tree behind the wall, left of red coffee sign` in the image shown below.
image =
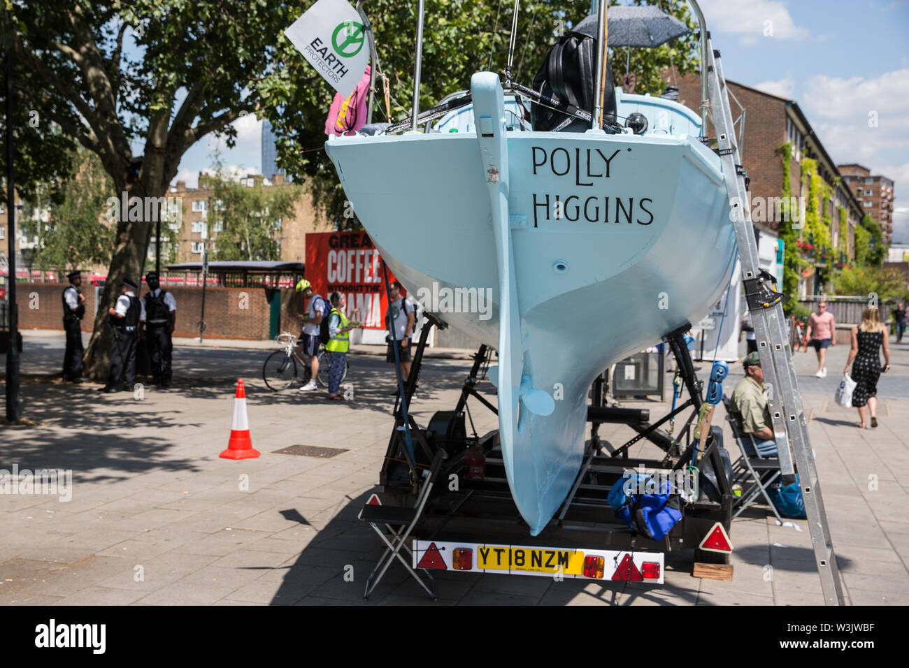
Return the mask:
[[[262,179],[244,185],[220,169],[212,180],[213,206],[209,224],[222,221],[215,238],[215,260],[278,260],[281,246],[275,238],[283,221],[293,218],[294,207],[302,194],[299,185],[265,187]],[[211,228],[210,228],[211,229]]]

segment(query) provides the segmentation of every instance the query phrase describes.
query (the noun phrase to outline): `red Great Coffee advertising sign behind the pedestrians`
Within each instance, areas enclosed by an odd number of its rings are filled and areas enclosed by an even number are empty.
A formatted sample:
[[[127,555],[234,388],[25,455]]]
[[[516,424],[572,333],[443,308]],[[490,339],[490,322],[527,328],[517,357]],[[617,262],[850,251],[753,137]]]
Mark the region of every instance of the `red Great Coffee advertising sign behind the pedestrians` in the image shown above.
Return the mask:
[[[306,234],[306,280],[325,298],[347,297],[346,315],[364,329],[385,329],[385,276],[382,258],[365,232]],[[388,271],[389,282],[395,275]]]

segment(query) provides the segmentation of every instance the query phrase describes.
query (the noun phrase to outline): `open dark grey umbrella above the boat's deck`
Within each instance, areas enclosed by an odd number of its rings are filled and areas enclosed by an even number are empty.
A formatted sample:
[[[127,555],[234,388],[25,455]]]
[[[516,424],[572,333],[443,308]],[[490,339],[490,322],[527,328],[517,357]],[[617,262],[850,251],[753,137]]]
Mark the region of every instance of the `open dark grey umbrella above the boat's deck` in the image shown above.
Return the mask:
[[[627,46],[629,63],[632,46],[659,46],[691,32],[687,25],[658,7],[615,6],[609,8],[606,16],[609,45]],[[597,15],[593,14],[575,25],[572,31],[596,39],[596,26]]]

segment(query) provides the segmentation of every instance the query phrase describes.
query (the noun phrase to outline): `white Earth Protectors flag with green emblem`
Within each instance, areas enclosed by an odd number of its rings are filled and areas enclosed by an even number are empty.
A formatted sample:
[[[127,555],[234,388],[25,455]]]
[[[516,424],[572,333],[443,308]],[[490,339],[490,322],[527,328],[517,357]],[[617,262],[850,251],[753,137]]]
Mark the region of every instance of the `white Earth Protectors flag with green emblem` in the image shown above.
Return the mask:
[[[338,93],[354,92],[369,65],[363,19],[354,7],[345,0],[318,0],[285,35]]]

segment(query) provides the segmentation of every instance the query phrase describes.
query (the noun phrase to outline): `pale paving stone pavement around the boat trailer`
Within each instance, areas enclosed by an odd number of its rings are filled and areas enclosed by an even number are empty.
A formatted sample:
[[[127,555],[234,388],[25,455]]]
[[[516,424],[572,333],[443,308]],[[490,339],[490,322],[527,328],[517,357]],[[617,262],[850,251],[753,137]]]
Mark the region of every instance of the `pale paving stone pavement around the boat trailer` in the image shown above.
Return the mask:
[[[893,394],[901,394],[909,345],[892,349]],[[842,368],[837,355],[845,352],[834,348],[828,367]],[[431,603],[400,564],[363,601],[381,550],[356,514],[375,489],[385,454],[394,391],[389,366],[352,358],[355,401],[335,403],[295,389],[269,392],[256,371],[264,351],[179,354],[175,386],[145,388],[141,400],[97,394],[92,384],[24,385],[25,414],[43,424],[0,427],[0,468],[71,469],[72,499],[0,495],[0,603]],[[56,355],[62,356],[59,342],[27,340],[24,373],[53,366]],[[802,374],[814,371],[806,354],[796,365]],[[418,423],[451,410],[468,367],[462,360],[425,364],[413,406]],[[217,456],[231,424],[230,375],[245,380],[259,459]],[[882,392],[881,425],[860,431],[854,409],[834,404],[835,374],[802,377],[826,382],[806,392],[804,404],[844,592],[855,604],[909,603],[909,393]],[[485,388],[494,401],[491,386]],[[625,405],[654,415],[668,410],[654,401]],[[481,434],[495,426],[494,415],[479,407],[473,418]],[[603,425],[601,434],[618,444],[632,432]],[[328,459],[275,453],[291,444],[346,452]],[[630,454],[648,447],[635,445]],[[777,526],[756,504],[736,519],[733,582],[695,579],[690,553],[668,553],[663,587],[441,573],[435,604],[823,603],[805,522],[791,524]]]

